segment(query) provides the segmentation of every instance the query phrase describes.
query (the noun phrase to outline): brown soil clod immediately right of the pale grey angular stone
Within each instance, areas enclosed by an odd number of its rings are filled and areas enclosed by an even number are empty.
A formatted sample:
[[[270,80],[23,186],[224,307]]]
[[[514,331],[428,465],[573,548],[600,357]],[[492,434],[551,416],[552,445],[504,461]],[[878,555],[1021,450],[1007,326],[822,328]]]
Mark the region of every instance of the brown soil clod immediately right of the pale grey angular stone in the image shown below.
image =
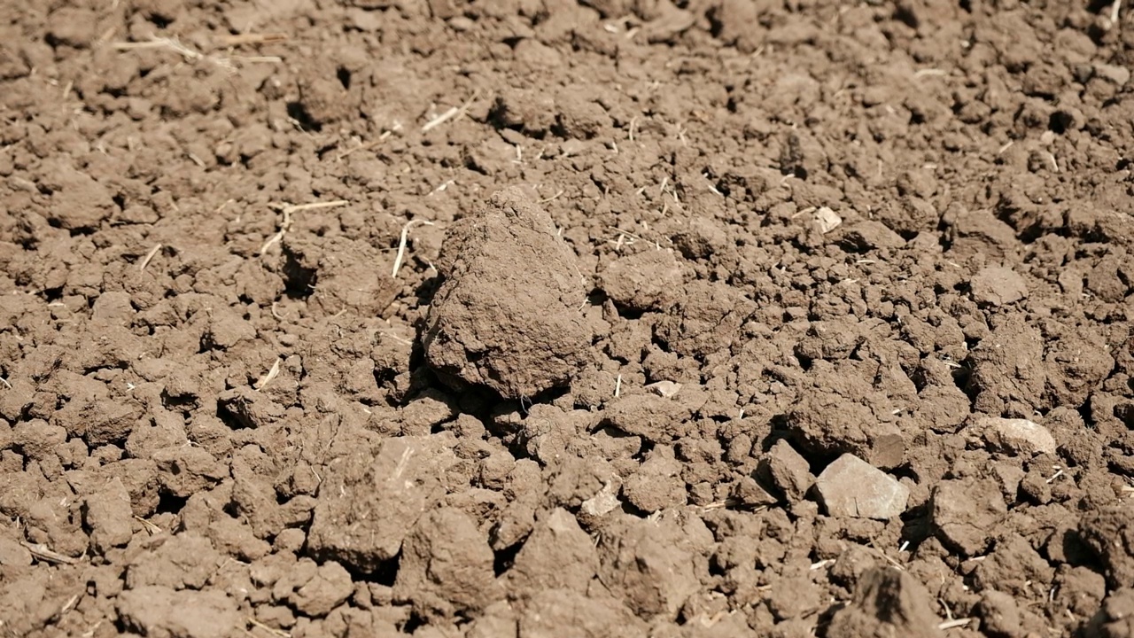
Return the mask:
[[[946,479],[931,495],[931,517],[937,536],[947,547],[975,556],[992,540],[1008,513],[1000,487],[992,479]]]

